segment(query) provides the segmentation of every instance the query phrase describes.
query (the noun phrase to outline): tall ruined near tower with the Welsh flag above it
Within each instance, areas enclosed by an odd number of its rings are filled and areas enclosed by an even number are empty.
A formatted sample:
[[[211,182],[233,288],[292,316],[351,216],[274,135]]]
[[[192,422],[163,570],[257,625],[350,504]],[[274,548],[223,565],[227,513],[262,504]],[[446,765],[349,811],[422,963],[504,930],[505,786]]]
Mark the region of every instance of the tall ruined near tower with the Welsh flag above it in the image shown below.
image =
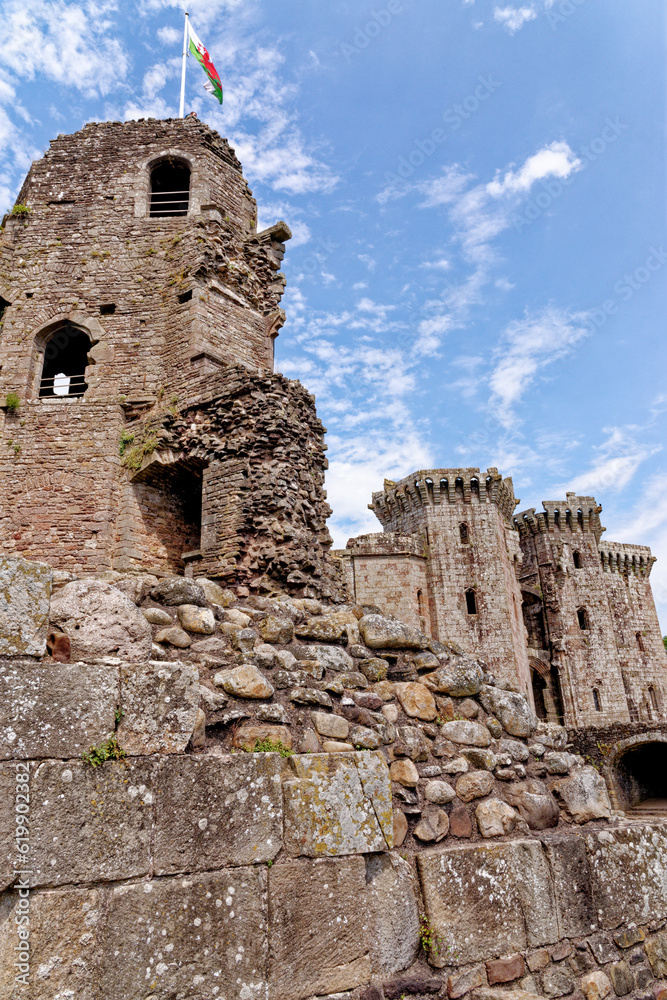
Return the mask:
[[[0,244],[2,551],[329,589],[323,429],[273,374],[289,237],[196,118],[51,143]]]

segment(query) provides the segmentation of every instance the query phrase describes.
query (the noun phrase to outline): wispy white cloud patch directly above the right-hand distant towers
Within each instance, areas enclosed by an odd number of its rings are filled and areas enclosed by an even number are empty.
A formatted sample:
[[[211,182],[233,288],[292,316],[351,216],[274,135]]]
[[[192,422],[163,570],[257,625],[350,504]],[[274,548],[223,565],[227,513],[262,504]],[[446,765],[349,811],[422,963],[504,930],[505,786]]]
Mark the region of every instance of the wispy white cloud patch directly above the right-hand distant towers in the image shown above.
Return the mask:
[[[490,407],[502,424],[516,419],[514,406],[535,382],[538,373],[568,354],[591,332],[585,312],[572,313],[548,306],[510,323],[496,348],[496,362],[489,376]]]

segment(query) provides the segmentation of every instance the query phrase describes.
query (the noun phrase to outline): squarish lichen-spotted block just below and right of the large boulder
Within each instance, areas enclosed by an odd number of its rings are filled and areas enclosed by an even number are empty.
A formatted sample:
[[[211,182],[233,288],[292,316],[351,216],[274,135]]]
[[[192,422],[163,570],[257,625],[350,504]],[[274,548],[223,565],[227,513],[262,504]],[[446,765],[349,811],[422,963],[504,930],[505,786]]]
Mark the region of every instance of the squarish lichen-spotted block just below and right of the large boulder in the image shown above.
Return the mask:
[[[199,708],[199,671],[174,660],[120,668],[118,742],[132,756],[182,753]],[[113,725],[111,726],[113,729]]]

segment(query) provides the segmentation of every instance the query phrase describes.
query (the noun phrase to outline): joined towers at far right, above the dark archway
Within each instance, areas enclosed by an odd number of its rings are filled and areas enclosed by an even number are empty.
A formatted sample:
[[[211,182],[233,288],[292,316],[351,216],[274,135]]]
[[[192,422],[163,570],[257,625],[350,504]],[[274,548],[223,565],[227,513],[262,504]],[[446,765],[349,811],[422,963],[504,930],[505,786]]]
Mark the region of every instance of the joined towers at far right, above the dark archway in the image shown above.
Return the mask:
[[[543,507],[516,517],[536,705],[554,703],[575,726],[663,718],[667,657],[650,549],[601,543],[593,497],[568,493]]]

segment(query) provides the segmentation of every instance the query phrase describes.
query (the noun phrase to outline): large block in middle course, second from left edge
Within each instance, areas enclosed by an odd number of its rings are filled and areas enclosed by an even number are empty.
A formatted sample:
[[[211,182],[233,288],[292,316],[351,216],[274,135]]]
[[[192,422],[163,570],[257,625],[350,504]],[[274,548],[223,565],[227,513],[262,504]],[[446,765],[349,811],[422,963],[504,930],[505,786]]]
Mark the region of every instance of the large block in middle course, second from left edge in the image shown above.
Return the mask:
[[[34,886],[145,875],[153,810],[151,761],[45,761],[30,793]]]

